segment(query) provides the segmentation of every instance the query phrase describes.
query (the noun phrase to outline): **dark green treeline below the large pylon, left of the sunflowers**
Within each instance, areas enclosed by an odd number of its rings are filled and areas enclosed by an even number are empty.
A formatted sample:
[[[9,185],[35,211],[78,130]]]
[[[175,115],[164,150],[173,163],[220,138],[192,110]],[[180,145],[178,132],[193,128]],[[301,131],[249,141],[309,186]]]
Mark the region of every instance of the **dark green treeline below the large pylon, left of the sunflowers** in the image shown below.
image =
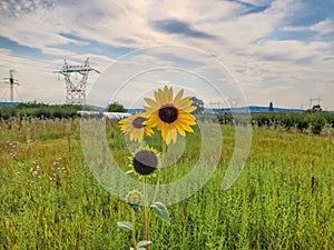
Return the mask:
[[[36,117],[42,119],[73,118],[81,106],[73,104],[46,104],[37,102],[18,103],[17,106],[0,106],[0,119],[8,120],[13,117]]]

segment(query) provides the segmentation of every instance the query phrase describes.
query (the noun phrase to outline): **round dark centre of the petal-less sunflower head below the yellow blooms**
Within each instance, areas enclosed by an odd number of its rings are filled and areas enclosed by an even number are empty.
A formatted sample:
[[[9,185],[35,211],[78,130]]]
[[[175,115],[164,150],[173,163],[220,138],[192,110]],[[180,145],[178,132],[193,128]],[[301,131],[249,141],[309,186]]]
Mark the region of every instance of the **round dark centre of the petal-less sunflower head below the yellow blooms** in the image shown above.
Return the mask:
[[[134,158],[134,168],[136,172],[147,176],[154,172],[158,164],[156,154],[148,150],[141,150]]]

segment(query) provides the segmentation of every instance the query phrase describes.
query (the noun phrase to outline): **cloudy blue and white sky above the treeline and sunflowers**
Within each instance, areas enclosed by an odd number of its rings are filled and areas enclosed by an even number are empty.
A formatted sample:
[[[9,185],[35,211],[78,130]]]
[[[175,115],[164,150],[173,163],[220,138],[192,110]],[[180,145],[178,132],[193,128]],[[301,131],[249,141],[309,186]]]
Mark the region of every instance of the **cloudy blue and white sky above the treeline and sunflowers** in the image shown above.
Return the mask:
[[[0,101],[65,103],[57,73],[89,64],[87,100],[140,107],[165,84],[207,107],[334,110],[333,0],[4,0]],[[71,76],[78,84],[80,76]]]

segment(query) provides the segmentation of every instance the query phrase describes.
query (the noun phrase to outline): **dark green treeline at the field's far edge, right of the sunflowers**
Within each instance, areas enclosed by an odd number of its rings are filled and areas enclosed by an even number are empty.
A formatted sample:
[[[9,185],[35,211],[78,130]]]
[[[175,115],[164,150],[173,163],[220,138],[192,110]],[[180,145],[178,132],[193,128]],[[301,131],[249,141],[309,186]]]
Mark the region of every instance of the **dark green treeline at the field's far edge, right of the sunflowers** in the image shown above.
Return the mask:
[[[232,114],[218,117],[222,124],[238,122]],[[320,134],[325,126],[334,128],[334,113],[325,111],[305,112],[265,112],[252,113],[252,124],[256,127],[296,129],[299,132],[310,130],[313,134]],[[249,123],[249,122],[248,122]]]

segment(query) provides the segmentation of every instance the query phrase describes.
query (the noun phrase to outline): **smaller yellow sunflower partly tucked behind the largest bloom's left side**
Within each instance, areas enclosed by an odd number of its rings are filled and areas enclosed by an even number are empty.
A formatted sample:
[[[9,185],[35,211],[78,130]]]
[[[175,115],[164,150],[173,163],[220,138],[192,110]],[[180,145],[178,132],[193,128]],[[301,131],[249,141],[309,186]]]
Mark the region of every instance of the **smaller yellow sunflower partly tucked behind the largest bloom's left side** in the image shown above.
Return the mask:
[[[144,134],[151,136],[154,131],[144,122],[147,120],[145,113],[135,113],[119,121],[120,131],[129,134],[131,141],[143,141]]]

